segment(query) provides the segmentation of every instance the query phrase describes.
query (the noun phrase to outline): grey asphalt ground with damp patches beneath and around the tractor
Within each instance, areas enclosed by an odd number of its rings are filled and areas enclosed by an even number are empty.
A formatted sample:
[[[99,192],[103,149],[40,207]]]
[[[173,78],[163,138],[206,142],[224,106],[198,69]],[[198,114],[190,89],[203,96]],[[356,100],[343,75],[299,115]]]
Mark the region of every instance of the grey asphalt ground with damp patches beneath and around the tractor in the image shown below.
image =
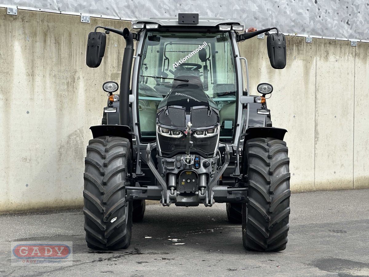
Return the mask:
[[[369,190],[291,195],[286,250],[244,250],[225,204],[147,205],[131,246],[86,246],[82,210],[0,216],[0,276],[369,276]],[[11,264],[11,243],[72,241],[70,266]],[[181,244],[178,244],[181,243]]]

